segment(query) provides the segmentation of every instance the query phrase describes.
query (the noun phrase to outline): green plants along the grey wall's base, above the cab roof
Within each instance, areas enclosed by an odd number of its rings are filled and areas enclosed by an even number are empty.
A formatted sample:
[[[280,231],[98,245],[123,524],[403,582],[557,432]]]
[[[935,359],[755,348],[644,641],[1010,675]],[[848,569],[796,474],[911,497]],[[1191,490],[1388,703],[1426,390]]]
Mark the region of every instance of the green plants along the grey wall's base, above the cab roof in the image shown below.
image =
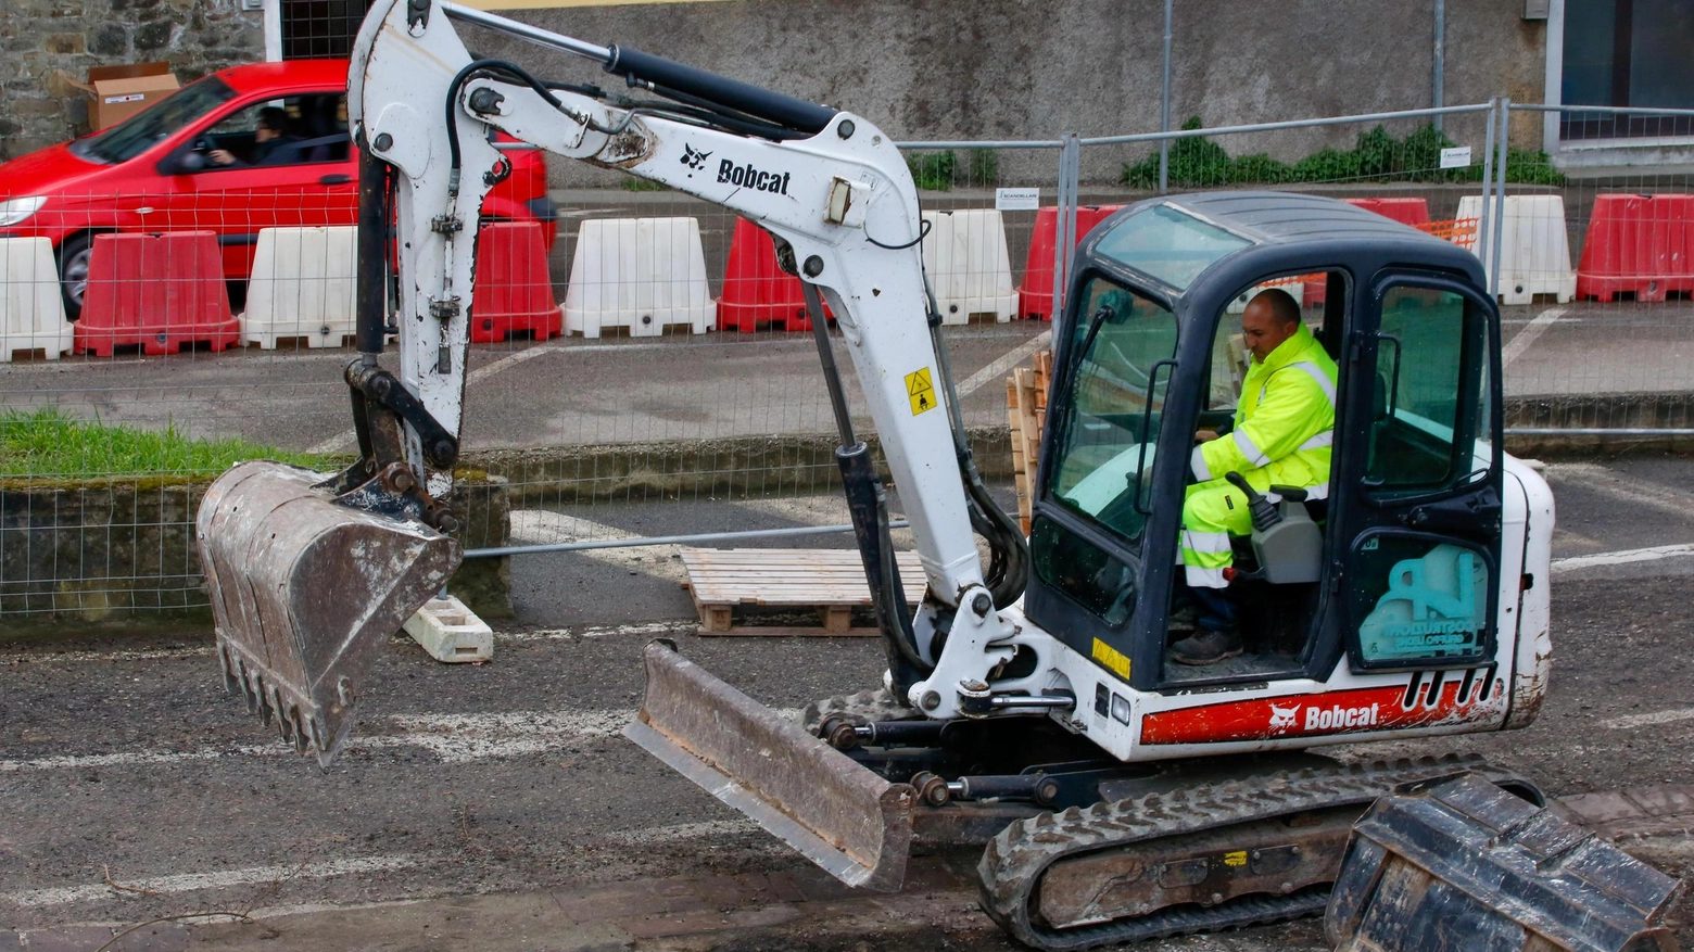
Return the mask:
[[[1203,129],[1193,115],[1182,129]],[[1321,149],[1287,164],[1264,152],[1230,156],[1204,136],[1171,142],[1169,181],[1174,188],[1218,188],[1225,185],[1286,185],[1321,181],[1482,181],[1482,166],[1443,169],[1442,149],[1453,142],[1433,125],[1396,139],[1377,125],[1360,132],[1352,149]],[[1125,164],[1120,176],[1132,188],[1159,188],[1159,154]],[[1547,152],[1508,149],[1506,181],[1564,185]]]

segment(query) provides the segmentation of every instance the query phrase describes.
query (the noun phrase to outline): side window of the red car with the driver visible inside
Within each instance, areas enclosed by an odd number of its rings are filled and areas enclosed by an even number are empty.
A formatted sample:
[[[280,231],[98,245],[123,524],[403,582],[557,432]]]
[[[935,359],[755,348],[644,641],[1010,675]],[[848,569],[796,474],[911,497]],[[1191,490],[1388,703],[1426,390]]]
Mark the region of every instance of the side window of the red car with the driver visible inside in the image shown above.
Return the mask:
[[[351,149],[346,93],[261,100],[219,119],[205,134],[215,173],[254,166],[344,163]]]

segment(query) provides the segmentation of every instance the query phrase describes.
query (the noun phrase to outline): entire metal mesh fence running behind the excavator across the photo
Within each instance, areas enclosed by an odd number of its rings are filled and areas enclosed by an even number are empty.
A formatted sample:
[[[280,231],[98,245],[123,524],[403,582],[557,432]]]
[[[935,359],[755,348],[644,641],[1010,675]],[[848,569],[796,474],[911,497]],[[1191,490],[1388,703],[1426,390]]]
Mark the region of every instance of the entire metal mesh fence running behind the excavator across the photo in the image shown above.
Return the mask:
[[[257,113],[210,127],[181,173],[193,188],[56,196],[3,229],[0,617],[202,605],[191,522],[212,478],[251,456],[349,459],[356,168],[325,97],[283,103],[269,149]],[[1049,346],[1069,249],[1160,178],[1345,198],[1491,268],[1497,234],[1509,425],[1686,425],[1686,174],[1555,169],[1518,147],[1542,112],[1499,124],[1491,105],[1455,107],[1442,132],[1431,115],[906,147],[979,464],[1010,474],[1003,379]],[[752,510],[644,520],[662,503],[805,508],[828,493],[817,346],[769,237],[637,180],[549,193],[544,159],[510,154],[471,308],[466,545],[750,529]],[[1301,278],[1277,281],[1321,320],[1321,283]]]

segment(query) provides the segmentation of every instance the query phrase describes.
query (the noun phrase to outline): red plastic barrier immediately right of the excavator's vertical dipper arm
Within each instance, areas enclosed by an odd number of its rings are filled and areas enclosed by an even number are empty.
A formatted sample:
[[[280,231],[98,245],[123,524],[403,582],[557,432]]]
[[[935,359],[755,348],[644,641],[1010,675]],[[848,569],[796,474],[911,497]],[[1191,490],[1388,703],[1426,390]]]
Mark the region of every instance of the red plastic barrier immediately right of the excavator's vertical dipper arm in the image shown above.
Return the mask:
[[[491,222],[476,239],[476,291],[471,296],[471,340],[498,344],[529,330],[535,340],[564,327],[552,296],[547,242],[540,222]]]

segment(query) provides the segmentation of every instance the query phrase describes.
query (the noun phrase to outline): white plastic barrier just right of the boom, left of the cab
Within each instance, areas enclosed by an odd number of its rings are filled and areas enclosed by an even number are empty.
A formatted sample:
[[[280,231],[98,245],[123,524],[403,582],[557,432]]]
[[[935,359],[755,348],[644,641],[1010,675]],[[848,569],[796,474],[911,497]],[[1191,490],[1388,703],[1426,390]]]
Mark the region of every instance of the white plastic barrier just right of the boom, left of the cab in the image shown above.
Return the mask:
[[[996,322],[1016,317],[1018,293],[1011,290],[1011,256],[999,212],[925,212],[923,220],[930,224],[923,271],[935,286],[942,324],[969,324],[972,313],[993,313]]]

